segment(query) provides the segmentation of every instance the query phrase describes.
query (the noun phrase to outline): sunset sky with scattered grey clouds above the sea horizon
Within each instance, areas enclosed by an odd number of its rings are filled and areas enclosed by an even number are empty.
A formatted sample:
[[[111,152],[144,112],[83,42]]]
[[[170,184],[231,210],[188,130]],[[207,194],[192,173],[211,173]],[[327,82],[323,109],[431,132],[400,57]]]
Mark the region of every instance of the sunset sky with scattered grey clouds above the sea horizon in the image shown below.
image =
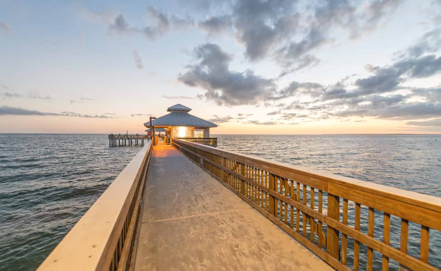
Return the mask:
[[[0,0],[1,133],[441,133],[441,0]]]

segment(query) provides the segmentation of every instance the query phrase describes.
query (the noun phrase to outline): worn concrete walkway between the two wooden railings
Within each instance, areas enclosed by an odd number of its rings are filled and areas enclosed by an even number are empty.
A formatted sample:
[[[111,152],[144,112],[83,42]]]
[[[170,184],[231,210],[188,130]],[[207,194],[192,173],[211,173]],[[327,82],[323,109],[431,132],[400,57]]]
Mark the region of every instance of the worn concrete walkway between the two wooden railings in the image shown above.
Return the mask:
[[[135,271],[334,270],[169,146],[153,147]]]

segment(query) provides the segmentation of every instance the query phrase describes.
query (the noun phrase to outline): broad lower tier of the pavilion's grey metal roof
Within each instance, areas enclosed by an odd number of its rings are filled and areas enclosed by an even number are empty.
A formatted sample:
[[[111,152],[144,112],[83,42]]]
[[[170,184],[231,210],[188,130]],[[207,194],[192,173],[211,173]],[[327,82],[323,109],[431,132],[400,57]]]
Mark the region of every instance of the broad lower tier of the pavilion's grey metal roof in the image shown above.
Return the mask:
[[[187,107],[188,108],[188,107]],[[152,120],[153,126],[192,126],[192,127],[217,127],[217,124],[194,117],[189,113],[169,113],[168,115],[158,117]],[[150,121],[144,123],[144,126],[150,127]]]

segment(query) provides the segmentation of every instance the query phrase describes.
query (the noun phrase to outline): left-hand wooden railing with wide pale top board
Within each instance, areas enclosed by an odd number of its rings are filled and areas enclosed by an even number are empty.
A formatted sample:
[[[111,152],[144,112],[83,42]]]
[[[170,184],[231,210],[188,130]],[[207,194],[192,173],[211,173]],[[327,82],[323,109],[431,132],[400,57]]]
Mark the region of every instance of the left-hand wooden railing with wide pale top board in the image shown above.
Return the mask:
[[[149,140],[37,271],[126,271],[133,267],[152,148]]]

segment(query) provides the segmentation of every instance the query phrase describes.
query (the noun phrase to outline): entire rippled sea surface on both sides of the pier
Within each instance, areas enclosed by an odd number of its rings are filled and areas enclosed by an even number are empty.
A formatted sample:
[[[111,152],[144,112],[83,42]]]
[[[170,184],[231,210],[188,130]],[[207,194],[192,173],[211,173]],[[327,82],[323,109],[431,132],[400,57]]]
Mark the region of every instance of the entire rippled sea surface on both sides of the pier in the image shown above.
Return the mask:
[[[218,137],[221,149],[441,197],[440,135]],[[0,134],[0,142],[0,271],[35,270],[141,149],[108,147],[107,135]],[[399,248],[400,221],[391,216],[391,224],[391,245]],[[381,241],[378,211],[375,226]],[[409,222],[412,256],[419,255],[419,238],[419,227]],[[430,263],[441,268],[440,232],[430,232],[430,247]],[[381,255],[374,261],[380,268]]]

